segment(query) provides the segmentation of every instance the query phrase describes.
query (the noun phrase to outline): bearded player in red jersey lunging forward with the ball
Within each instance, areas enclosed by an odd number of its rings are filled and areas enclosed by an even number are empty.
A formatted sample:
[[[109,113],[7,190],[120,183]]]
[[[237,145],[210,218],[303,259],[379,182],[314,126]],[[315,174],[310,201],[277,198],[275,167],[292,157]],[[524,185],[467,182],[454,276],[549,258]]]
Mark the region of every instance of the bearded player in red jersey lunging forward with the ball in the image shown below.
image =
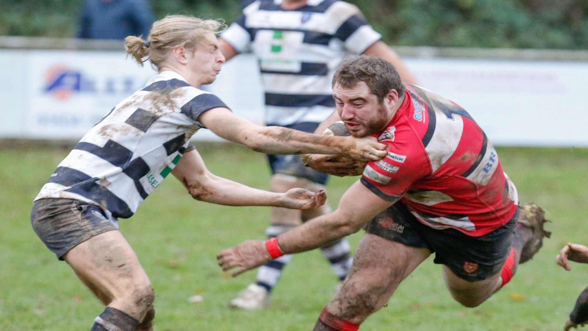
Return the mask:
[[[333,97],[337,111],[322,126],[343,121],[351,135],[386,144],[387,157],[366,165],[332,213],[217,256],[236,276],[365,227],[349,276],[315,330],[357,330],[432,253],[452,296],[478,306],[549,236],[541,208],[519,208],[492,143],[455,102],[403,84],[392,64],[365,55],[340,65]],[[324,159],[312,159],[325,171]]]

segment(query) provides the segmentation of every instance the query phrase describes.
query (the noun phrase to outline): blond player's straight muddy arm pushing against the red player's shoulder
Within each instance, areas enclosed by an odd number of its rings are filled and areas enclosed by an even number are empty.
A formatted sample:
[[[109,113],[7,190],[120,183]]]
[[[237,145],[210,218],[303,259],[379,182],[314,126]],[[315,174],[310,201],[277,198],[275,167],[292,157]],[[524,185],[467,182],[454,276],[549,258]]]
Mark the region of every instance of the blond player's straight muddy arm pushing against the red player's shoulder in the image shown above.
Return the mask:
[[[284,127],[263,127],[224,107],[205,111],[198,120],[226,140],[268,154],[340,154],[360,161],[386,156],[386,145],[377,143],[373,137],[326,137]]]

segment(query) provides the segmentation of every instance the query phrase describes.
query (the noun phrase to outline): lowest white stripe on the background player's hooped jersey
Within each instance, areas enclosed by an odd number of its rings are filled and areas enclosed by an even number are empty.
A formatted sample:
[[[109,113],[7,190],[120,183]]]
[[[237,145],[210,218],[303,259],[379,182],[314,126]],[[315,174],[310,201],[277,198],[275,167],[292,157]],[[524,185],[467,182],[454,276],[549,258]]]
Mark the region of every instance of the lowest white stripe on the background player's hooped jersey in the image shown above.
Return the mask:
[[[292,123],[324,121],[333,113],[333,108],[316,105],[312,107],[265,107],[266,123],[273,125],[290,125]]]

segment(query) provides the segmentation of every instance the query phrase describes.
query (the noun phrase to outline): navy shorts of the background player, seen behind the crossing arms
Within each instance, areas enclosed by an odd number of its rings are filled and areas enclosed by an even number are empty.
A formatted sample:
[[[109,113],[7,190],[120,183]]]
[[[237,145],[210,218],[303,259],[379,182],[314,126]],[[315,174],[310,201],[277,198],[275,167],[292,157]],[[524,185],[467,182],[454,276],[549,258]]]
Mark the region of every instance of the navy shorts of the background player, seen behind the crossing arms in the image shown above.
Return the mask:
[[[320,123],[304,122],[292,125],[284,125],[285,128],[291,128],[298,131],[314,133]],[[272,168],[272,174],[285,174],[289,176],[305,178],[315,183],[325,185],[329,178],[328,174],[319,173],[313,168],[306,167],[302,162],[300,155],[273,155],[268,154],[269,166]]]

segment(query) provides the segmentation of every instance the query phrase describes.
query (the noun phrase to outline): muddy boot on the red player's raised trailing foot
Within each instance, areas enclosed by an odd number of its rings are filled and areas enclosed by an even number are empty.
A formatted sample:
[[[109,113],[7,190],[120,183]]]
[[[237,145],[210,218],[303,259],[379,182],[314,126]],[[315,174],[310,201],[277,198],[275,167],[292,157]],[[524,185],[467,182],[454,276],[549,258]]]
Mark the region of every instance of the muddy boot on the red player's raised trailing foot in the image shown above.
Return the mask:
[[[532,259],[533,255],[543,246],[543,238],[551,237],[551,232],[543,229],[543,223],[547,221],[543,208],[534,203],[527,203],[520,208],[519,223],[531,229],[533,234],[524,243],[523,249],[520,252],[519,264]]]

